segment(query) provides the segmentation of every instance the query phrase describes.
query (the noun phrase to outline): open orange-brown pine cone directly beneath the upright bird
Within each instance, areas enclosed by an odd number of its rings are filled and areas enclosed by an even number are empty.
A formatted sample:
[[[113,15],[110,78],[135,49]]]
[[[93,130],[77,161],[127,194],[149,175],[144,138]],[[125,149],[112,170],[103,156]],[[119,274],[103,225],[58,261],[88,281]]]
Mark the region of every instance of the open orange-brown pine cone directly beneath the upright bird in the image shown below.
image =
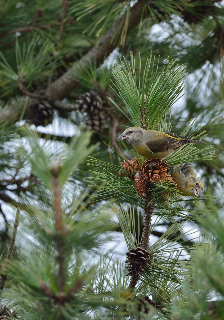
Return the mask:
[[[172,183],[175,183],[172,180],[171,174],[167,173],[167,166],[165,162],[162,162],[160,160],[155,161],[153,159],[146,159],[142,163],[141,166],[142,173],[147,181],[158,183],[159,181],[171,181]]]

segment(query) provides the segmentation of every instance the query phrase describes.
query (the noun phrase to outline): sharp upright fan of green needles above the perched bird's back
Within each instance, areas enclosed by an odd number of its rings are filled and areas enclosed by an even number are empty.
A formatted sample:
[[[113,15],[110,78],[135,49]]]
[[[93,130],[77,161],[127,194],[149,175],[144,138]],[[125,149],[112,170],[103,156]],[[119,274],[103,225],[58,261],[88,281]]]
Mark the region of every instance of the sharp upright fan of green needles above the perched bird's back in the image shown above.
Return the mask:
[[[115,87],[117,95],[124,102],[130,116],[132,123],[139,127],[140,119],[147,129],[150,127],[155,130],[165,113],[171,108],[172,104],[180,98],[180,93],[183,90],[183,71],[184,68],[174,67],[175,61],[171,61],[155,74],[155,56],[152,61],[152,52],[145,63],[142,80],[137,79],[135,70],[135,59],[131,54],[131,66],[127,64],[126,60],[121,61],[122,69],[116,64],[113,69],[113,75],[116,83]],[[158,63],[157,63],[158,66]],[[148,76],[151,68],[151,74],[148,82]],[[141,60],[139,55],[139,74],[141,73]],[[116,92],[116,91],[115,91]],[[144,98],[146,93],[146,98]],[[110,98],[109,98],[110,99]],[[117,108],[117,104],[110,99]],[[141,106],[141,109],[140,109]],[[120,108],[119,108],[120,109]],[[120,109],[121,110],[121,109]],[[121,110],[122,111],[122,110]]]

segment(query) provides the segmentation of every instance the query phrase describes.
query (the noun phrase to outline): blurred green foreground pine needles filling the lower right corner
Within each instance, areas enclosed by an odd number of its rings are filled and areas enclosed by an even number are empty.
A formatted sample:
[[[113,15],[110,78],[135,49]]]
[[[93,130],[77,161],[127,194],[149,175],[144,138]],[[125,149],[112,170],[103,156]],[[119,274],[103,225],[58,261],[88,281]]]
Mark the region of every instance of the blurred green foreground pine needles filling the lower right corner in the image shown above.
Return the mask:
[[[223,210],[218,210],[210,201],[209,207],[201,204],[204,211],[200,217],[207,244],[196,252],[192,264],[192,279],[185,280],[183,295],[187,303],[184,308],[174,304],[172,319],[222,319],[223,309]]]

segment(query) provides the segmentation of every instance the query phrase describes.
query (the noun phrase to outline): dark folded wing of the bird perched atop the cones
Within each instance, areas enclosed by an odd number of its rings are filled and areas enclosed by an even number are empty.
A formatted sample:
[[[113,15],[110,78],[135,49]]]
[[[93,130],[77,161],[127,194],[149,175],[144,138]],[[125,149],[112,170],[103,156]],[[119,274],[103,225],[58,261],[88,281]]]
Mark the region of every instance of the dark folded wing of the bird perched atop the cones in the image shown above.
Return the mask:
[[[185,143],[189,143],[191,140],[192,139],[190,138],[181,137],[177,134],[164,132],[164,139],[162,141],[158,141],[157,144],[155,142],[152,143],[151,141],[148,141],[146,145],[152,152],[160,152],[180,147]]]

